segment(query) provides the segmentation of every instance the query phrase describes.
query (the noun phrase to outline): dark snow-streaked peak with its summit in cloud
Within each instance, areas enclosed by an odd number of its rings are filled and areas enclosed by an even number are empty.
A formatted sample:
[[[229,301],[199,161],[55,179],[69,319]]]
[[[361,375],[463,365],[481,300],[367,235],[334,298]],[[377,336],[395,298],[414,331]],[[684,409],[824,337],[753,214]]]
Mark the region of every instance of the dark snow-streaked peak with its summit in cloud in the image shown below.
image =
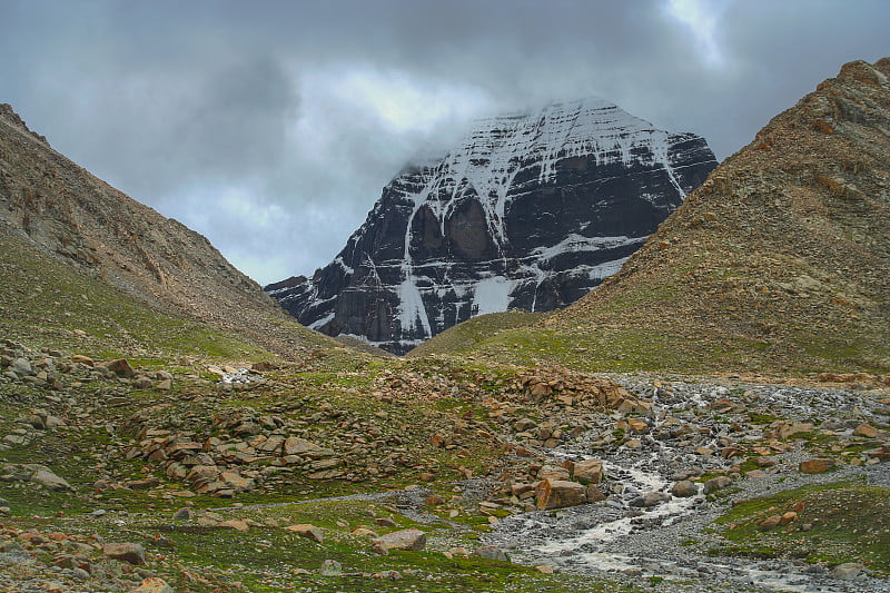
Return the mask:
[[[582,297],[715,165],[703,138],[600,99],[482,120],[397,175],[334,261],[266,290],[304,325],[402,354],[476,315]]]

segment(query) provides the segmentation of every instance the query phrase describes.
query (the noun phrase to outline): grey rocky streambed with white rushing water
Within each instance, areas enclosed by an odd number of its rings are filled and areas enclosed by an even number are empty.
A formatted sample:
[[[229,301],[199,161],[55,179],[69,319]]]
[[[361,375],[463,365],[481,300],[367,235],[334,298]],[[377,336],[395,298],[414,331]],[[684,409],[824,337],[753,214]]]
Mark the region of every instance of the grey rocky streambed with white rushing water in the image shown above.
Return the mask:
[[[886,393],[613,378],[649,398],[652,408],[624,434],[615,427],[626,418],[615,414],[548,451],[554,464],[596,454],[605,500],[512,515],[486,543],[523,564],[649,580],[678,591],[701,591],[702,582],[713,591],[890,591],[890,581],[857,562],[728,555],[724,526],[714,523],[742,501],[795,488],[846,481],[890,485],[882,449],[863,448],[887,439],[869,429],[887,423]],[[801,471],[813,458],[831,471]],[[804,518],[805,512],[793,513],[777,527],[791,536],[812,530]]]

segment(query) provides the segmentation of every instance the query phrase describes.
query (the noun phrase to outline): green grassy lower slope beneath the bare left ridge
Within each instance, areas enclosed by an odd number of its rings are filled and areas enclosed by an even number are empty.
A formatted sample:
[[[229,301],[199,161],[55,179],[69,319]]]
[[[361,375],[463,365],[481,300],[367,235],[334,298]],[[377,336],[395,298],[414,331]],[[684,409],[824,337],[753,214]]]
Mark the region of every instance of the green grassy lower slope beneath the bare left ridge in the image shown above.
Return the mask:
[[[93,356],[200,355],[249,360],[271,355],[234,332],[161,313],[58,260],[0,225],[0,336],[32,347]],[[286,324],[301,346],[336,343],[296,322]]]

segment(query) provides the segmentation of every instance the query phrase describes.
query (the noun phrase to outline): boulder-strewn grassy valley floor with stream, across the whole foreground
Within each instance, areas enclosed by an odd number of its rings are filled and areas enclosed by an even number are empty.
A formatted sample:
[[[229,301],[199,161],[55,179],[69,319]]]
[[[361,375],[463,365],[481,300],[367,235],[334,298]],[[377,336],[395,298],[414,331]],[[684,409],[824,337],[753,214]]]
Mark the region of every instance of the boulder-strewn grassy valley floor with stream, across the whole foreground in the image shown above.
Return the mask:
[[[887,377],[8,340],[0,377],[3,591],[890,591]]]

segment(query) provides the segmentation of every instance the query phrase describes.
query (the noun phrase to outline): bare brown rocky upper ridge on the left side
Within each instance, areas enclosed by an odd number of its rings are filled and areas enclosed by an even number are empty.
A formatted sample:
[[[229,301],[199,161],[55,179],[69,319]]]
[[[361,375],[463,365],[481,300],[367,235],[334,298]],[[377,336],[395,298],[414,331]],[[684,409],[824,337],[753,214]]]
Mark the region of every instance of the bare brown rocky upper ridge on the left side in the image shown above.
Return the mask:
[[[278,354],[335,345],[293,323],[204,236],[65,158],[6,103],[0,105],[0,227],[4,244],[30,243],[159,312],[240,332]],[[22,263],[11,253],[4,249],[0,263],[19,269]],[[62,300],[59,308],[70,306]]]

